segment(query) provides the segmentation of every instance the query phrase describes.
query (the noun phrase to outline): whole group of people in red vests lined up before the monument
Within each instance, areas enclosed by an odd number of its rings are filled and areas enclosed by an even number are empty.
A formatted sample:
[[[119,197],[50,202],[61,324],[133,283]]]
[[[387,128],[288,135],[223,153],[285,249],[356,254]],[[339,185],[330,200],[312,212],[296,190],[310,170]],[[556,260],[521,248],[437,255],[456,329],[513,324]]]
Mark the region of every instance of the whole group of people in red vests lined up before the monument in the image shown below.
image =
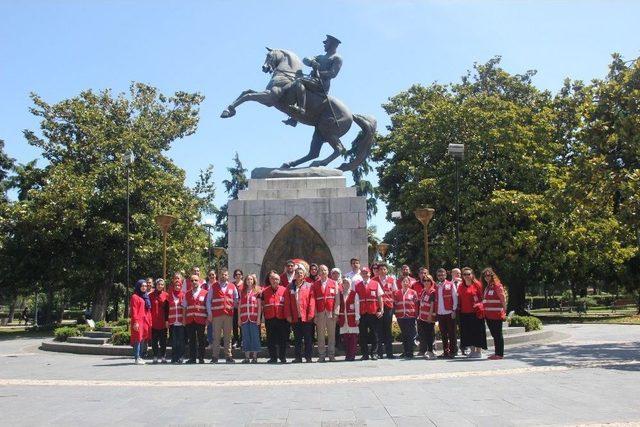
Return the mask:
[[[194,267],[191,275],[175,273],[165,291],[163,279],[141,279],[130,301],[131,344],[136,364],[151,342],[154,363],[167,363],[167,336],[171,340],[171,363],[205,363],[205,349],[211,346],[211,363],[222,357],[234,363],[232,345],[241,343],[242,363],[257,363],[261,351],[261,325],[266,329],[267,363],[286,363],[286,350],[293,331],[294,363],[312,362],[314,335],[318,362],[336,360],[340,341],[345,360],[395,359],[392,323],[397,321],[402,337],[399,357],[411,359],[415,341],[426,359],[454,358],[460,353],[481,358],[487,349],[486,325],[494,340],[495,354],[502,359],[502,323],[506,297],[500,279],[485,268],[477,279],[471,268],[445,269],[436,278],[422,267],[418,277],[402,266],[399,277],[389,275],[384,263],[360,266],[351,260],[346,274],[326,265],[289,260],[284,271],[270,271],[264,286],[255,274],[244,276],[239,269],[229,277],[226,269],[209,271],[201,277]],[[442,353],[435,355],[435,325],[442,338]],[[168,334],[168,335],[167,335]],[[221,347],[222,341],[222,349]],[[188,346],[188,354],[186,347]],[[186,359],[186,360],[185,360]]]

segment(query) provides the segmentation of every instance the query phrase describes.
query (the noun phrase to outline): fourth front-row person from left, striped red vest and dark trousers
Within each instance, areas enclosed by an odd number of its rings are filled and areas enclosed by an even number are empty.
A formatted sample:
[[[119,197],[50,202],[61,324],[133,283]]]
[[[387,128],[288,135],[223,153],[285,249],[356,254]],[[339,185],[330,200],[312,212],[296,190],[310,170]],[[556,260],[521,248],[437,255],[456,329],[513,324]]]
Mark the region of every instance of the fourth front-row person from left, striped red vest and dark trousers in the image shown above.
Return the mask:
[[[183,306],[187,309],[184,319],[189,340],[189,360],[187,363],[196,363],[196,356],[200,363],[204,363],[207,291],[202,289],[200,278],[195,274],[191,275],[191,283],[191,290],[185,295],[183,303]]]

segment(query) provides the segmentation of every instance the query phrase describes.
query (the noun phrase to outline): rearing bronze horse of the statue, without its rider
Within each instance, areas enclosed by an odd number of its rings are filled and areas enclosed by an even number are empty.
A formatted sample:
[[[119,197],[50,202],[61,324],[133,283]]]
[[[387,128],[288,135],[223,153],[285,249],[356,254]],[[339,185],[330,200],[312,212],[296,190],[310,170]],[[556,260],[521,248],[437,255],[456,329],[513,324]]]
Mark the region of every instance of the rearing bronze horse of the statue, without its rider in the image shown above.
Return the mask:
[[[256,101],[267,107],[276,107],[290,115],[300,123],[313,126],[313,138],[309,153],[297,160],[284,163],[282,168],[298,166],[309,160],[317,159],[322,144],[327,142],[333,148],[333,153],[323,160],[316,160],[309,166],[327,166],[346,150],[340,142],[340,137],[346,134],[355,122],[362,130],[353,141],[355,156],[348,163],[338,167],[342,171],[352,171],[360,165],[371,151],[373,145],[376,120],[370,116],[351,114],[346,105],[340,100],[326,96],[324,93],[307,93],[306,111],[299,114],[293,107],[296,101],[294,81],[302,76],[302,62],[293,52],[282,49],[267,48],[267,58],[262,65],[262,71],[271,73],[271,80],[262,92],[245,90],[224,110],[220,117],[227,118],[236,114],[236,108],[246,101]]]

